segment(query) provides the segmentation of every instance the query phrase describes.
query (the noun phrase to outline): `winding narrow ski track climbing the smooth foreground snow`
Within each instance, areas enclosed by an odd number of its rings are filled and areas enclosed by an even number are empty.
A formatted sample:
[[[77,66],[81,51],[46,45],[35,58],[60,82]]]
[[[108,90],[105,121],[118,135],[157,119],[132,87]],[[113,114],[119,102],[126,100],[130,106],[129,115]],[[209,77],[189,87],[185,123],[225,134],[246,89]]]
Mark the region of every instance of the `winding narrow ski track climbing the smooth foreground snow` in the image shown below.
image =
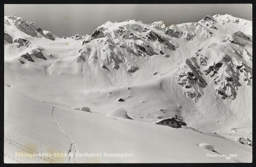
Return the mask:
[[[66,136],[68,137],[68,139],[70,140],[70,149],[69,149],[69,152],[68,152],[68,156],[69,156],[69,163],[78,163],[78,158],[76,156],[76,153],[77,153],[77,148],[76,148],[76,144],[75,142],[73,141],[72,137],[67,133],[65,132],[61,126],[58,124],[56,118],[55,118],[55,114],[54,114],[54,111],[55,111],[55,106],[53,106],[52,108],[52,118],[53,118],[53,121],[55,122],[55,124],[57,125],[57,127],[63,132],[66,134]],[[74,158],[75,156],[75,158]]]

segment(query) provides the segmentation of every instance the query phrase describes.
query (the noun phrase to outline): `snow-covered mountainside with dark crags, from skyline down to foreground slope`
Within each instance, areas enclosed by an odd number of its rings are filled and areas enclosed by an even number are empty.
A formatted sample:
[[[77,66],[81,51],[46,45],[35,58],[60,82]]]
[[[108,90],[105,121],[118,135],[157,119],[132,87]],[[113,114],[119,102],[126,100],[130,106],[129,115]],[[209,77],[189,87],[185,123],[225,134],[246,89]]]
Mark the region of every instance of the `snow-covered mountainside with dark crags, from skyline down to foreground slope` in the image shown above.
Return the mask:
[[[4,26],[5,85],[30,98],[103,114],[122,107],[146,122],[175,113],[210,131],[251,128],[252,21],[107,21],[62,38],[20,17],[5,16]]]

